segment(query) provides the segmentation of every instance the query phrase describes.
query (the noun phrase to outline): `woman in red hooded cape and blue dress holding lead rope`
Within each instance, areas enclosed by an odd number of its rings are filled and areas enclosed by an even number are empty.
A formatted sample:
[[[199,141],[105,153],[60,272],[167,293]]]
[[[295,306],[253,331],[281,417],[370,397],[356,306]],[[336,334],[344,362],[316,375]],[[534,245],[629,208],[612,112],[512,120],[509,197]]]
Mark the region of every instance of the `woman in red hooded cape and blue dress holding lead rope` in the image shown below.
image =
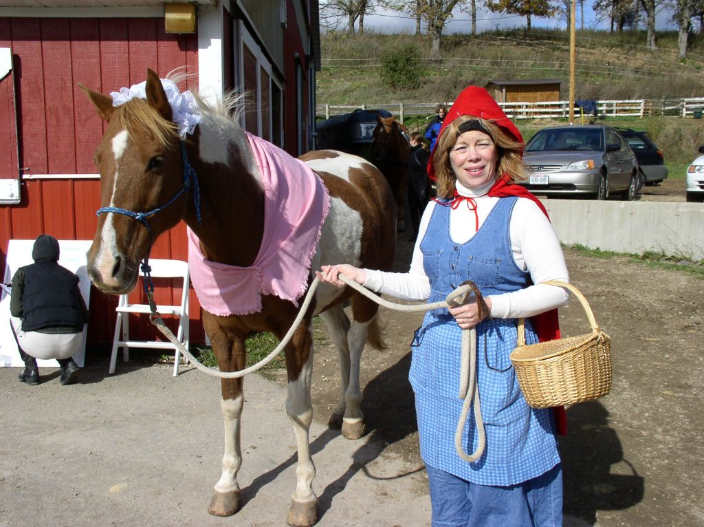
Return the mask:
[[[420,454],[429,478],[434,527],[562,526],[562,468],[556,434],[564,409],[533,409],[524,399],[509,354],[517,319],[527,340],[559,337],[561,287],[568,280],[560,242],[544,207],[514,182],[524,177],[523,138],[481,87],[463,90],[448,112],[428,172],[438,198],[420,221],[407,273],[322,266],[321,280],[341,287],[343,274],[370,290],[428,302],[444,300],[472,280],[476,299],[428,311],[411,343],[409,380],[415,393]],[[477,383],[486,447],[477,461],[455,452],[455,426],[463,399],[460,349],[463,330],[477,331]],[[479,439],[472,410],[462,436],[465,452]]]

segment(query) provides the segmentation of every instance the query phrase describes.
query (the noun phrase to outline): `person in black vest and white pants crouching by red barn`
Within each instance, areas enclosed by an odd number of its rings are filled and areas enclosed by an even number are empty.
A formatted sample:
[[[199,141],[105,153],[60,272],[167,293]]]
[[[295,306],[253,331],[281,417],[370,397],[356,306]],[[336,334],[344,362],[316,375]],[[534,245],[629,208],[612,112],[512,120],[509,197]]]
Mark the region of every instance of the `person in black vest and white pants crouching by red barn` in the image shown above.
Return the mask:
[[[78,287],[79,278],[58,264],[58,240],[42,234],[34,241],[34,263],[20,267],[12,277],[10,312],[20,318],[13,325],[25,370],[20,380],[39,384],[37,359],[57,359],[61,384],[78,380],[79,368],[71,359],[82,342],[88,309]]]

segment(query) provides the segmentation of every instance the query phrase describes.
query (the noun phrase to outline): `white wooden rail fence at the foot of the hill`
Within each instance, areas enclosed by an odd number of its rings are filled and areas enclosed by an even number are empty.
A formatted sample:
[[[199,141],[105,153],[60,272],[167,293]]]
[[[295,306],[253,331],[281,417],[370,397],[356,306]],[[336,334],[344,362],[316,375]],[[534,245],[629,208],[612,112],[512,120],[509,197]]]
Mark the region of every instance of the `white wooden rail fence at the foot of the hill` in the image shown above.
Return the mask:
[[[704,111],[704,97],[689,99],[663,98],[663,99],[636,99],[621,101],[595,101],[596,112],[599,117],[694,117],[700,118]],[[444,103],[448,108],[452,101]],[[567,118],[570,116],[570,101],[541,101],[541,102],[506,102],[499,103],[512,119],[547,119]],[[318,116],[326,119],[349,113],[356,109],[384,109],[393,113],[401,123],[406,116],[432,116],[435,112],[435,103],[389,103],[389,104],[360,104],[356,106],[341,106],[332,104],[318,104]],[[574,115],[579,118],[580,109],[575,106]]]

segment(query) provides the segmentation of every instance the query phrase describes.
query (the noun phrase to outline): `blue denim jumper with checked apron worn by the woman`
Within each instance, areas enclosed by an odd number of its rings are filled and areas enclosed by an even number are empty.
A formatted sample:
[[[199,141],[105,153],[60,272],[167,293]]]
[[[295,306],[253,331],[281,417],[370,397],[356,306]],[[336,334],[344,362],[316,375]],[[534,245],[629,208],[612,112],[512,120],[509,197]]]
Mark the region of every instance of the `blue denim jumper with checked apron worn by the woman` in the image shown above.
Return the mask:
[[[527,287],[529,273],[513,260],[509,223],[517,197],[504,197],[464,244],[450,237],[450,207],[436,204],[420,243],[430,280],[428,302],[444,300],[465,280],[484,296]],[[455,452],[455,428],[463,399],[460,385],[462,330],[447,309],[428,311],[415,332],[409,380],[415,392],[420,454],[426,464],[479,485],[514,485],[560,462],[551,409],[532,409],[508,358],[517,342],[517,320],[486,319],[477,325],[477,386],[486,428],[484,454],[474,463]],[[526,324],[526,340],[537,342]],[[463,433],[465,452],[477,447],[474,411]]]

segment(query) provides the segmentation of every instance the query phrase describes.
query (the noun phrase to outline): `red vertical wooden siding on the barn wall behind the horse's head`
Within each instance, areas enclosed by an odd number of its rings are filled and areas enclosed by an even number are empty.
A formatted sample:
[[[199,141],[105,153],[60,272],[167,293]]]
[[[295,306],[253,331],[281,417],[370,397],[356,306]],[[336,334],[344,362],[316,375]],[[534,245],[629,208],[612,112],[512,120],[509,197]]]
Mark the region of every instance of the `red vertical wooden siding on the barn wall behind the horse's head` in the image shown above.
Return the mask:
[[[13,50],[20,167],[29,174],[95,173],[93,151],[103,123],[77,87],[99,92],[142,82],[146,68],[159,75],[185,66],[198,71],[196,35],[167,35],[163,18],[0,18],[0,46]],[[8,96],[0,85],[0,104]],[[4,137],[0,137],[4,141]],[[1,148],[5,148],[6,144]],[[59,239],[90,240],[100,206],[98,180],[25,180],[19,205],[0,206],[0,266],[11,239],[33,240],[48,233]],[[187,259],[185,225],[157,240],[153,258]],[[180,288],[161,285],[158,303],[178,303]],[[135,298],[141,292],[133,293]],[[191,340],[203,340],[200,307],[191,291]],[[89,345],[112,341],[116,297],[91,291]],[[156,335],[149,323],[131,324],[135,337]],[[172,325],[175,328],[175,324]],[[130,329],[132,329],[130,328]]]

